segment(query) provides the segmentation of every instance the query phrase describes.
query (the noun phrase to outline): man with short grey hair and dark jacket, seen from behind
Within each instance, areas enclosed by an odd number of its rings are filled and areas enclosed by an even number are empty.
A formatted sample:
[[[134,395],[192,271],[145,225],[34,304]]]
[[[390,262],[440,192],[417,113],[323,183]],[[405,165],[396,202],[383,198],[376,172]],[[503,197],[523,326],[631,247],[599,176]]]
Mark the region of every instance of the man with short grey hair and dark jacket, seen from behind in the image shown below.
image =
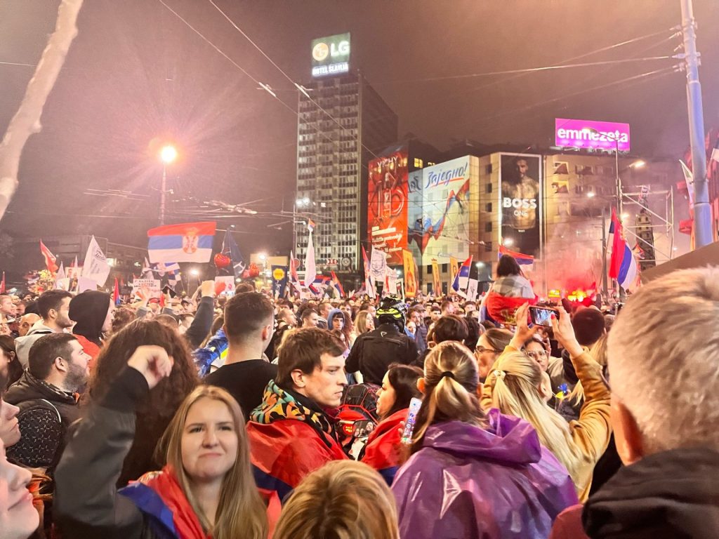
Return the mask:
[[[608,336],[612,426],[626,466],[551,538],[719,537],[719,268],[681,270],[628,299]],[[661,343],[661,346],[657,346]]]

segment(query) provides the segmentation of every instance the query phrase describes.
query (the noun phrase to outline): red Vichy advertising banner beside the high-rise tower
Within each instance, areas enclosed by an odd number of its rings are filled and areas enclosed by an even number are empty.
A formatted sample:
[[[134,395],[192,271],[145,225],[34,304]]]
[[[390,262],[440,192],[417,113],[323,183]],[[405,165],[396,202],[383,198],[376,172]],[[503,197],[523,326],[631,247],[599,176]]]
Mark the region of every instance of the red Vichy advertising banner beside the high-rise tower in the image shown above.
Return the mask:
[[[372,247],[388,254],[388,264],[402,264],[402,251],[407,248],[407,151],[372,160],[368,168],[369,239]]]

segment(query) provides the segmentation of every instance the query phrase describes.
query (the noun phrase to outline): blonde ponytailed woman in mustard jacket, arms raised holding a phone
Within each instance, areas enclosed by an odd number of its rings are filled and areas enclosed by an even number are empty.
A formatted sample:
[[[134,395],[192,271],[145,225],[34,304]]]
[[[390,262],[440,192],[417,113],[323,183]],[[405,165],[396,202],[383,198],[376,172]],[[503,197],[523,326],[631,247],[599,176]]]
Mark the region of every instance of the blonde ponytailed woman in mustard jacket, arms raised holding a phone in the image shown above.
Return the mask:
[[[490,369],[482,388],[482,406],[485,410],[498,408],[501,413],[516,415],[531,423],[542,445],[567,468],[580,501],[585,502],[592,484],[592,471],[612,433],[609,390],[600,365],[577,343],[569,315],[559,307],[559,321],[552,321],[554,336],[569,352],[584,388],[585,403],[579,420],[571,423],[546,405],[541,367],[520,351],[536,331],[527,327],[527,313],[528,305],[517,310],[517,331]]]

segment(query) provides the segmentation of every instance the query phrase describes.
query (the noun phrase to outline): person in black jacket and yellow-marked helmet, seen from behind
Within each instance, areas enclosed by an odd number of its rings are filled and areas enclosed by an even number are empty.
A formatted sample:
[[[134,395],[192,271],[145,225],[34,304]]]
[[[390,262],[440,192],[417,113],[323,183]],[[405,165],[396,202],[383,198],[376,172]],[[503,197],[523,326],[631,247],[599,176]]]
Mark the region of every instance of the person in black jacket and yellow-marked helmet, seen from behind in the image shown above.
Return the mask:
[[[347,372],[361,372],[365,383],[382,385],[392,363],[405,365],[417,361],[417,344],[404,333],[407,305],[388,296],[377,309],[380,326],[362,333],[354,341],[347,356]]]

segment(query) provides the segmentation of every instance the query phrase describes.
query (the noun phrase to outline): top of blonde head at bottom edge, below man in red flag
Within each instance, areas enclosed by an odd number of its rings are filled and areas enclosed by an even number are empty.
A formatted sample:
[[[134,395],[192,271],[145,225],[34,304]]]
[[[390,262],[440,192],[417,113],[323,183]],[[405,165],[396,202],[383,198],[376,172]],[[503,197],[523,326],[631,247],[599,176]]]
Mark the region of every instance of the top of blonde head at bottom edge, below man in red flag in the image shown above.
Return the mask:
[[[285,502],[273,539],[399,539],[395,499],[367,464],[333,461]]]

